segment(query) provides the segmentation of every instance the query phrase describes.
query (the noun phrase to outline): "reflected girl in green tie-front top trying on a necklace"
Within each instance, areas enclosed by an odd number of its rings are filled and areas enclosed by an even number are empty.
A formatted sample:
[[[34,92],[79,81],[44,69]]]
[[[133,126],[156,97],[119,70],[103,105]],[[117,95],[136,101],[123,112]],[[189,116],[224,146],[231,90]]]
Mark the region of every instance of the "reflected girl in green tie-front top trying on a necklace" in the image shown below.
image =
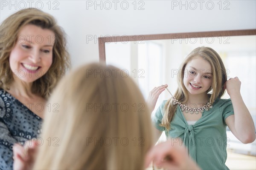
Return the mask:
[[[227,81],[220,56],[209,47],[194,49],[179,70],[177,91],[152,116],[157,139],[165,131],[174,143],[186,145],[202,169],[228,169],[226,126],[244,144],[256,138],[252,117],[240,94],[241,82],[237,77]],[[151,111],[165,89],[166,85],[150,92]],[[225,89],[230,99],[221,99]]]

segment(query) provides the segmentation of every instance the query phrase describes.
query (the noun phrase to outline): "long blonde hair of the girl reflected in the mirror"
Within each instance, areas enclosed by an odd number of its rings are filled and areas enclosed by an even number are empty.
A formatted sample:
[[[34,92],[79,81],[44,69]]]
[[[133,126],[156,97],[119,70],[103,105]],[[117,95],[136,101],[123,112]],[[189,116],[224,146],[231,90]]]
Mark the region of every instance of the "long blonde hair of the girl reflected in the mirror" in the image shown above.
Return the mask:
[[[194,49],[183,61],[179,69],[179,74],[177,77],[178,88],[174,94],[174,97],[182,103],[186,103],[188,100],[188,91],[184,86],[183,78],[187,73],[185,72],[186,64],[196,56],[200,56],[204,60],[208,61],[212,67],[212,86],[207,90],[207,93],[211,92],[209,102],[213,104],[216,98],[221,98],[221,96],[225,93],[223,86],[227,81],[227,73],[221,57],[214,49],[210,47],[202,46]],[[173,105],[172,98],[170,98],[164,106],[164,116],[160,126],[165,127],[167,130],[170,129],[170,123],[174,117],[176,109],[177,105]]]

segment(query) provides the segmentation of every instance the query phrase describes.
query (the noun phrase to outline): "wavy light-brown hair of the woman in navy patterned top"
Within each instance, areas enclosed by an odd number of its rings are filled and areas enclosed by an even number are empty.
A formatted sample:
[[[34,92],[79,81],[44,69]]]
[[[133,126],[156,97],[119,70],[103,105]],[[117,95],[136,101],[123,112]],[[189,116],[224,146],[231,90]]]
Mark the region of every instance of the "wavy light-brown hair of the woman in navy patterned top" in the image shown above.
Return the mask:
[[[48,72],[32,84],[32,92],[48,98],[52,89],[70,66],[70,57],[66,50],[65,33],[57,25],[54,17],[39,9],[24,9],[9,16],[0,26],[0,88],[10,89],[14,81],[10,68],[9,56],[18,40],[20,30],[32,24],[42,29],[49,29],[55,34],[52,52],[52,65]],[[54,37],[49,37],[54,38]]]

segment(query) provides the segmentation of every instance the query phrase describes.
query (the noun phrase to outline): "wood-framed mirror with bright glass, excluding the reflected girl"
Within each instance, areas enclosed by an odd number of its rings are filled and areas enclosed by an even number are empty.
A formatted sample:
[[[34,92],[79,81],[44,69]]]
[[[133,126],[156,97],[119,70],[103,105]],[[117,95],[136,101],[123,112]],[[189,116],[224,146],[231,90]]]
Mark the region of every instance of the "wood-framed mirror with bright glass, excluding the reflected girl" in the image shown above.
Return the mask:
[[[122,69],[123,76],[130,75],[145,98],[155,86],[168,84],[177,89],[177,71],[184,58],[198,46],[209,46],[221,56],[227,77],[239,77],[241,95],[256,122],[256,30],[222,32],[194,32],[165,35],[134,35],[99,38],[100,61]],[[171,96],[164,91],[157,105]],[[227,92],[223,98],[230,98]],[[157,108],[157,106],[156,106]],[[238,140],[229,134],[230,149],[239,153],[256,155],[252,144],[235,145]],[[233,143],[232,143],[233,142]],[[238,141],[239,142],[239,141]],[[240,149],[239,149],[240,148]],[[245,149],[246,148],[246,149]],[[250,168],[249,168],[250,169]]]

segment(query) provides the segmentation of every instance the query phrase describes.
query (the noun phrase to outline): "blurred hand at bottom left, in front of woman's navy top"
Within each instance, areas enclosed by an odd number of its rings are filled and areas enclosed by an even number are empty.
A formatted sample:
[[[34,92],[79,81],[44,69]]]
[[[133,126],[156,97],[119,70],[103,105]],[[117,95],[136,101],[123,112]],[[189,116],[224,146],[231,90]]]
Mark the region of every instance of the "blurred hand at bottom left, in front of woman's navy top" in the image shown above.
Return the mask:
[[[26,141],[24,146],[19,144],[13,146],[13,169],[31,170],[35,162],[37,151],[36,141]]]

